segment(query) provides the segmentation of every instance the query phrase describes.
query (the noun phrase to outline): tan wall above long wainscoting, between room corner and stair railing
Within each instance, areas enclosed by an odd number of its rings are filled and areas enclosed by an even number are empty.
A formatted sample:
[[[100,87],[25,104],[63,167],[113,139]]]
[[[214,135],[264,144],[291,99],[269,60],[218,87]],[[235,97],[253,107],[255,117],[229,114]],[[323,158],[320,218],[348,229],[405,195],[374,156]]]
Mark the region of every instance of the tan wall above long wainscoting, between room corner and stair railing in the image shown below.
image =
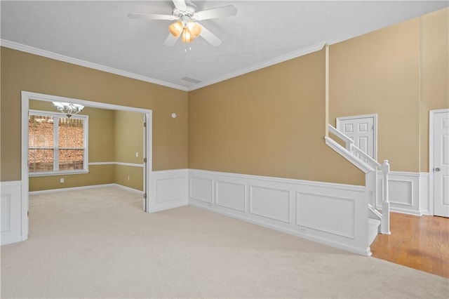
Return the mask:
[[[363,184],[324,144],[325,52],[189,92],[189,168]]]

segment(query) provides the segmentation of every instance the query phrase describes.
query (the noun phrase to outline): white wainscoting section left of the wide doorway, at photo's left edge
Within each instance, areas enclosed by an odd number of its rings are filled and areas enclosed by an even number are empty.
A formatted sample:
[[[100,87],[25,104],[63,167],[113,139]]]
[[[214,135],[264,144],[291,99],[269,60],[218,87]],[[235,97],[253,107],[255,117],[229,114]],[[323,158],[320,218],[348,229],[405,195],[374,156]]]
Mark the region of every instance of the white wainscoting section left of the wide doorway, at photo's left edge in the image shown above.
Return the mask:
[[[21,182],[1,182],[1,245],[22,241]]]

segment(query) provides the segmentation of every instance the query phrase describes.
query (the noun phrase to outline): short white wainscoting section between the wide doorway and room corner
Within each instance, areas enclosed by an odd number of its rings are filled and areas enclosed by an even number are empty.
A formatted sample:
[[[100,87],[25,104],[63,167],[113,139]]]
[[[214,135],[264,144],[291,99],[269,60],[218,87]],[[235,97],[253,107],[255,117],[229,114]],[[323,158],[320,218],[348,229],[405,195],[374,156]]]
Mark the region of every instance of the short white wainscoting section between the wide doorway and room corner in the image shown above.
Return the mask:
[[[187,169],[153,171],[149,190],[149,211],[187,205],[189,174]]]

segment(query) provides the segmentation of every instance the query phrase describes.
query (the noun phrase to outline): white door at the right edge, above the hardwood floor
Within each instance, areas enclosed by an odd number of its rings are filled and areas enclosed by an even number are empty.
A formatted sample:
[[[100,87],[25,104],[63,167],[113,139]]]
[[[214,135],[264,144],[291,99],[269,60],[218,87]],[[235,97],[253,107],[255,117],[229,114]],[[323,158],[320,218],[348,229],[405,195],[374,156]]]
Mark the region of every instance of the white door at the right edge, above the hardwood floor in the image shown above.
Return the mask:
[[[449,111],[436,112],[433,119],[434,215],[449,217]]]

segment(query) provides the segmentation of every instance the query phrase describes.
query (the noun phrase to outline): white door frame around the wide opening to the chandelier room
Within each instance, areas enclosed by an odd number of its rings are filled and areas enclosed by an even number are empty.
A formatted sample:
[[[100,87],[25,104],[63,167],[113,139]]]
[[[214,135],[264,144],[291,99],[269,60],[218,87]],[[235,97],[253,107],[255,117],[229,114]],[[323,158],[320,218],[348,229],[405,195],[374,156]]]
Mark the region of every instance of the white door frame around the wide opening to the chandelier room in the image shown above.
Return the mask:
[[[152,109],[128,107],[121,105],[113,105],[105,102],[92,102],[90,100],[80,100],[76,98],[66,98],[58,95],[47,95],[44,93],[33,93],[30,91],[22,91],[22,114],[21,114],[21,239],[22,241],[28,239],[29,231],[29,219],[28,219],[28,208],[29,208],[29,173],[28,173],[28,111],[29,111],[29,100],[41,100],[46,102],[73,102],[75,104],[80,104],[86,107],[100,108],[100,109],[113,109],[121,110],[127,112],[138,112],[144,114],[146,120],[146,130],[144,133],[144,158],[147,159],[147,163],[144,163],[144,192],[147,193],[147,199],[145,199],[145,207],[147,213],[149,211],[149,201],[152,198],[152,192],[149,189],[152,180]]]

